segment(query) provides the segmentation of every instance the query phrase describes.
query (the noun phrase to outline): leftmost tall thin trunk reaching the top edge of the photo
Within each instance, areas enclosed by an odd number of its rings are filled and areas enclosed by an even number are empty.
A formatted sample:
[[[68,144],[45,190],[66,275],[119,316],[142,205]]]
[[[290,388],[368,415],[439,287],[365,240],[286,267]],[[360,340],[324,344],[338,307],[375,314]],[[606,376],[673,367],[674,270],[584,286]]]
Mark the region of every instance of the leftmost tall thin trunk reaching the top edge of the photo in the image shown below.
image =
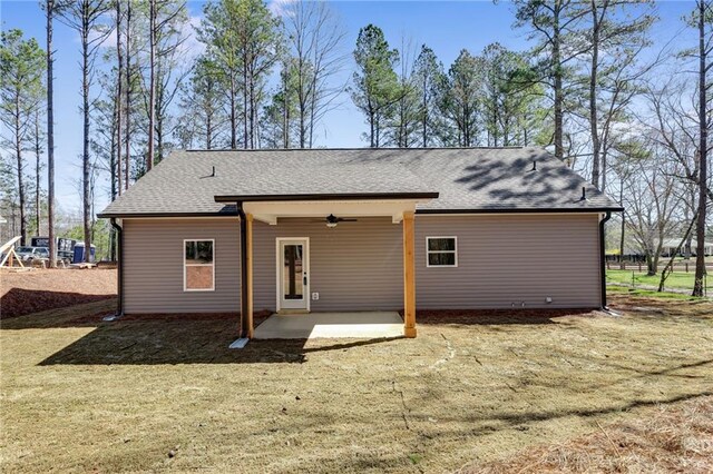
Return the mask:
[[[57,266],[55,241],[55,97],[52,85],[52,21],[55,0],[47,0],[47,234],[49,237],[49,266]]]

